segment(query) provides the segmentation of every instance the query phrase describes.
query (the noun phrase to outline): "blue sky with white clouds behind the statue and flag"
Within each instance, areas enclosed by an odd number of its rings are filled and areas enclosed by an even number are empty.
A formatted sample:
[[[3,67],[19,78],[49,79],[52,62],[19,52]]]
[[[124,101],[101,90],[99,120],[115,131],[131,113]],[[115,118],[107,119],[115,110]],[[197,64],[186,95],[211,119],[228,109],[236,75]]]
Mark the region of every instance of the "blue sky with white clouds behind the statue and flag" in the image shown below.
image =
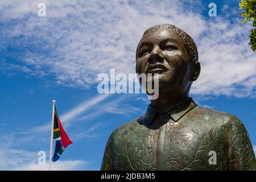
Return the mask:
[[[38,3],[46,3],[46,17]],[[208,16],[208,5],[217,16]],[[1,1],[0,169],[47,169],[52,100],[73,144],[53,169],[98,170],[112,131],[142,115],[145,94],[98,94],[97,75],[135,72],[135,49],[150,26],[172,23],[199,49],[191,97],[245,124],[256,150],[256,55],[239,1]]]

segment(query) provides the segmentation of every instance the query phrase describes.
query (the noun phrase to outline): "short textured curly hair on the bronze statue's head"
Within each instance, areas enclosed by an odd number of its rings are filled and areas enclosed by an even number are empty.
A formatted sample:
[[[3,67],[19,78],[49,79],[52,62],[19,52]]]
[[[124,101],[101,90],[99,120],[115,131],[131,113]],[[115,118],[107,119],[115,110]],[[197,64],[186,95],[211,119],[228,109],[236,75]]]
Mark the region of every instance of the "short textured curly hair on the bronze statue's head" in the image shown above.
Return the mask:
[[[161,25],[156,25],[156,26],[150,27],[144,32],[143,36],[145,34],[147,34],[148,32],[152,32],[152,31],[158,30],[160,28],[171,28],[172,30],[174,30],[180,36],[185,48],[187,49],[190,60],[198,61],[198,52],[197,52],[197,47],[196,47],[196,43],[194,42],[194,40],[186,32],[184,32],[180,28],[174,26],[173,24],[161,24]],[[142,38],[143,38],[143,36],[142,36]],[[139,42],[139,44],[137,46],[136,57],[138,54],[138,49],[139,49],[140,43],[141,43],[141,41]]]

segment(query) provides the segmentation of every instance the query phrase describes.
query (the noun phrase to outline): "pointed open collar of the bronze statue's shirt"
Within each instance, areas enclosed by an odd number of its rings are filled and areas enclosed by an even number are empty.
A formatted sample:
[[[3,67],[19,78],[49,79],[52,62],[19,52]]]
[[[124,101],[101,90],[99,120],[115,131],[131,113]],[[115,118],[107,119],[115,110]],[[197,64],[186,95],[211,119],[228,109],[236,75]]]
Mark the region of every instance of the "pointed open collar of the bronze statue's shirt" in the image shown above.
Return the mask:
[[[181,101],[176,105],[171,106],[164,113],[168,113],[170,117],[174,119],[175,122],[177,122],[181,117],[183,117],[186,113],[188,113],[188,111],[192,110],[196,106],[197,104],[192,100],[191,97],[189,97],[189,98],[186,98],[184,101]],[[156,115],[156,110],[150,104],[147,107],[146,113],[141,117],[139,117],[137,121],[141,125],[147,126],[153,121],[155,115]]]

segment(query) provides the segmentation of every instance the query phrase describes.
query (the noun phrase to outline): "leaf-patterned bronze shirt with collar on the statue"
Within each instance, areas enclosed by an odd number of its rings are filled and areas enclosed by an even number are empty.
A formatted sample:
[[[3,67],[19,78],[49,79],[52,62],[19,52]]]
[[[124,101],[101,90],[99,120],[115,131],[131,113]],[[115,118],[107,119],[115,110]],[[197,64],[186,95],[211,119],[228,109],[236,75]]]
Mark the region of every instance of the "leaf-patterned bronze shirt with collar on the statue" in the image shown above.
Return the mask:
[[[113,131],[101,170],[256,170],[249,135],[234,115],[192,98],[146,113]]]

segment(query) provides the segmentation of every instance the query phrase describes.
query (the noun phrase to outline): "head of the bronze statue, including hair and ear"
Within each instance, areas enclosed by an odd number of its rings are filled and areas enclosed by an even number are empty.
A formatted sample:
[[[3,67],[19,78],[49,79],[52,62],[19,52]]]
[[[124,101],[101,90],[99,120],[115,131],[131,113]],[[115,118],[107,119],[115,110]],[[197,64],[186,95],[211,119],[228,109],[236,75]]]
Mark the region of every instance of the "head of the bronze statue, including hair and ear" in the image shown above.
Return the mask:
[[[147,81],[154,80],[154,73],[159,74],[159,97],[188,96],[192,82],[200,75],[196,44],[172,24],[150,27],[137,47],[136,72],[146,73]]]

